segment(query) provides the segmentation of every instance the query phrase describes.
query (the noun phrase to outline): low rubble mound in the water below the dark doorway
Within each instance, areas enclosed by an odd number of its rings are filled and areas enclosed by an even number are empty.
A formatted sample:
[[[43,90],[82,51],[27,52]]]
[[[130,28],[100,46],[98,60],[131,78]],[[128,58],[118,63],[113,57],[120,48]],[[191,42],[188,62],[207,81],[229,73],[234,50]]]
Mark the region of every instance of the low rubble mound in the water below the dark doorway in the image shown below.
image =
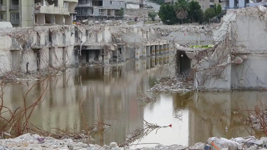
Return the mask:
[[[149,91],[155,92],[187,92],[193,90],[193,81],[186,81],[186,76],[179,75],[158,79]]]

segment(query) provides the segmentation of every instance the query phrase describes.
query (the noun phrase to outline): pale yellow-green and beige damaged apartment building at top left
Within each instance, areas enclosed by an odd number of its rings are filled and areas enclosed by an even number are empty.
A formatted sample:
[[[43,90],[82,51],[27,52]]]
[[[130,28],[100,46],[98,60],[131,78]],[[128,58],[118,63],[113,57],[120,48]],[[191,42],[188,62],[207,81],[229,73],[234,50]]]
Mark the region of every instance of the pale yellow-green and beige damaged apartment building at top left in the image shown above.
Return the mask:
[[[55,23],[71,25],[78,0],[0,0],[0,21],[13,27]]]

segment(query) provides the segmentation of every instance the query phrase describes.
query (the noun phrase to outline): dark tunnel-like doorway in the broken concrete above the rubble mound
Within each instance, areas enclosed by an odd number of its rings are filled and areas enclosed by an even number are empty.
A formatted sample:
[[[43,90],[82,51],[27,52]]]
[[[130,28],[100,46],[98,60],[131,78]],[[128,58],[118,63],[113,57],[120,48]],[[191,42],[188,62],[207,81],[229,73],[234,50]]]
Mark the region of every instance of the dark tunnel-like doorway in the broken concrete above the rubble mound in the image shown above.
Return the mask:
[[[191,71],[191,59],[185,54],[184,51],[178,51],[177,54],[177,73],[182,75],[188,75]]]

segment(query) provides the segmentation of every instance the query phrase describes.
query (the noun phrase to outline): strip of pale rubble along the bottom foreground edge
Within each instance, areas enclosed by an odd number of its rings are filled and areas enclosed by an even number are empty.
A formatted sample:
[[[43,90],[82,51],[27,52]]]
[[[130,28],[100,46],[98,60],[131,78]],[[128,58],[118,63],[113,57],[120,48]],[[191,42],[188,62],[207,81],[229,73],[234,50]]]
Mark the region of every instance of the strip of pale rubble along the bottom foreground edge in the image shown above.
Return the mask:
[[[235,139],[225,139],[222,137],[210,137],[207,140],[207,144],[196,143],[193,146],[182,146],[182,145],[170,145],[166,146],[163,144],[157,144],[155,147],[143,147],[139,150],[218,150],[218,149],[235,149],[235,150],[255,150],[263,149],[266,147],[267,137],[262,137],[260,140],[256,139],[254,136],[248,137],[238,137]],[[215,146],[216,147],[215,147]],[[133,150],[131,147],[125,145],[124,147],[119,147],[116,142],[111,142],[109,145],[97,145],[97,144],[85,144],[82,142],[75,142],[72,139],[54,139],[52,137],[41,137],[37,134],[30,135],[24,134],[14,139],[1,139],[0,140],[0,150],[41,150],[41,149],[59,149],[59,150]],[[134,148],[134,147],[133,147]]]

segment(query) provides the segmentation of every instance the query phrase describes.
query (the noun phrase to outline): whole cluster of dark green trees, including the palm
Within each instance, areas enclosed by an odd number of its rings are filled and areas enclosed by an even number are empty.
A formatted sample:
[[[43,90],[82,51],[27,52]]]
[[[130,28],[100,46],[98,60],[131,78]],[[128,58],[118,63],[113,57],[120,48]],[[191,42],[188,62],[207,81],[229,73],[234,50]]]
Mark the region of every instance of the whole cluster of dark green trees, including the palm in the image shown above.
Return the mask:
[[[166,25],[173,25],[177,23],[193,23],[193,22],[209,22],[215,16],[220,15],[222,7],[219,4],[214,8],[209,8],[202,11],[201,6],[197,1],[179,0],[174,4],[162,4],[159,9],[159,18]]]

